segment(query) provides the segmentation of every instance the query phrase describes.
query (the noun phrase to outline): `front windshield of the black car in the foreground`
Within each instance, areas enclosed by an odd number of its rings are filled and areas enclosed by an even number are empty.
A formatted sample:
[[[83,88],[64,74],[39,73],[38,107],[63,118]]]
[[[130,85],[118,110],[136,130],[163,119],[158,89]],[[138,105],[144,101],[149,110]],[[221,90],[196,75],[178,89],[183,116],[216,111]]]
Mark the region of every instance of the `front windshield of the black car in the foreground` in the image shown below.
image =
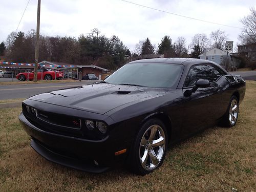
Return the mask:
[[[104,82],[152,88],[172,88],[178,83],[183,66],[169,63],[131,63],[123,66]]]

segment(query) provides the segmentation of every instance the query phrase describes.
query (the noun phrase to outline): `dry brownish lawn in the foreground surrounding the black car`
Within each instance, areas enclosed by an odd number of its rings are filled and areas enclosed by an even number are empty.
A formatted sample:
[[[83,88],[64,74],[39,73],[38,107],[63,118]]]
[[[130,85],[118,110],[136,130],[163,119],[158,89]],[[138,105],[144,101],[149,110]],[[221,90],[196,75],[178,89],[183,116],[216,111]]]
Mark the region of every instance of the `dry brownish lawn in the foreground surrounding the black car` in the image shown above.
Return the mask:
[[[235,127],[212,127],[172,148],[144,177],[125,169],[88,174],[51,163],[29,146],[17,116],[0,110],[0,191],[256,191],[256,82],[247,81]],[[234,190],[233,190],[234,191]]]

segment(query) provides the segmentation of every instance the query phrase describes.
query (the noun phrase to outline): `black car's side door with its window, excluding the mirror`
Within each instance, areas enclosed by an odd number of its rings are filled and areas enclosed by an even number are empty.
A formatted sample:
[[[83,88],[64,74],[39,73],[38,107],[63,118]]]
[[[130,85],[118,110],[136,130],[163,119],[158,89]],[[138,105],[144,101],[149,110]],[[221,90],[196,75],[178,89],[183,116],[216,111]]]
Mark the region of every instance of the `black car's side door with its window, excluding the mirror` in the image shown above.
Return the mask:
[[[224,76],[214,65],[200,64],[192,66],[186,76],[183,94],[191,90],[199,79],[210,82],[208,88],[198,88],[190,96],[184,96],[183,134],[188,136],[214,124],[218,118],[218,100],[220,85],[218,80]]]

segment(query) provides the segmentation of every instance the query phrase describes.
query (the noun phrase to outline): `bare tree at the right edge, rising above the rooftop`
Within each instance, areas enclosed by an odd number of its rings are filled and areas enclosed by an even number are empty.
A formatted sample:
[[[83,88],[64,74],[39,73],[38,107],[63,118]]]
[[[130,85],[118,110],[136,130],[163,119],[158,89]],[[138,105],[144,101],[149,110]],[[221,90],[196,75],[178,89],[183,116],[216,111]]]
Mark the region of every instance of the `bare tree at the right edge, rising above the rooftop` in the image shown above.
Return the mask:
[[[244,45],[256,42],[256,10],[252,7],[250,12],[250,15],[245,16],[241,20],[244,27],[239,35],[239,40]]]

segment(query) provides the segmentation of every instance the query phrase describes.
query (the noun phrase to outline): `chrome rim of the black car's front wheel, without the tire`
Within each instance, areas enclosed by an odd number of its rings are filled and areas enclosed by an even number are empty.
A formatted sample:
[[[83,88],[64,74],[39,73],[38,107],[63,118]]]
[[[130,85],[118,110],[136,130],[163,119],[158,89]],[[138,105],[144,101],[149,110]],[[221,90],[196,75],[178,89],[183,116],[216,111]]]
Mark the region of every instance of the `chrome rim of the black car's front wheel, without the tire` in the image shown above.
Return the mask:
[[[161,162],[165,151],[165,134],[160,125],[148,127],[140,141],[140,163],[145,170],[152,170]]]

